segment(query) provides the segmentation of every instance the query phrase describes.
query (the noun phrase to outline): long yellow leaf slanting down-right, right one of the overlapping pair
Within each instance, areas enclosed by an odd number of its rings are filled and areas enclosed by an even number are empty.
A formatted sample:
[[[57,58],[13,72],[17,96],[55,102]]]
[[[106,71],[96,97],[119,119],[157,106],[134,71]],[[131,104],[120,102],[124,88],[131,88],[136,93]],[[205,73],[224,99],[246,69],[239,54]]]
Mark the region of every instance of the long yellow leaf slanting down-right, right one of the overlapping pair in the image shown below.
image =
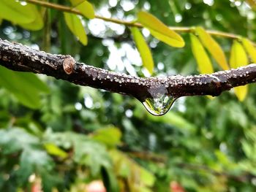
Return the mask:
[[[206,49],[211,53],[211,55],[217,61],[217,64],[219,64],[222,69],[228,70],[229,66],[222,47],[219,46],[219,44],[204,30],[204,28],[197,27],[195,28],[195,31],[203,43],[203,46],[206,47]]]

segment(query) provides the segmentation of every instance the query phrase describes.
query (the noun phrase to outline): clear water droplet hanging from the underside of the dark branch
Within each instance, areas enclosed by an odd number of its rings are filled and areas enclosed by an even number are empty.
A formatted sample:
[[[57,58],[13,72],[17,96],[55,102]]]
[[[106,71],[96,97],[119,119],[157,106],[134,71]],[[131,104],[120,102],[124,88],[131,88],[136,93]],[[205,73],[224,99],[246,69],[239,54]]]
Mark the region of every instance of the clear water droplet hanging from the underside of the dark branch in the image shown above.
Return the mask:
[[[152,115],[165,115],[170,110],[176,98],[167,95],[161,95],[157,98],[147,98],[143,105]]]

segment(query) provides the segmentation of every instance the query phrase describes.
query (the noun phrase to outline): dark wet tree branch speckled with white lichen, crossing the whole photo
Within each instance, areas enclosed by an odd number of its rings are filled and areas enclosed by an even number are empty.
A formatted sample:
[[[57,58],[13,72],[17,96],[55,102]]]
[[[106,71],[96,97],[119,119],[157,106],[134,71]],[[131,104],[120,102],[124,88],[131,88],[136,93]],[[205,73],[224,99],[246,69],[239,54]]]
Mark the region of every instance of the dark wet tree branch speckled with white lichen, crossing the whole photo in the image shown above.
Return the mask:
[[[70,55],[53,55],[2,39],[0,65],[15,71],[46,74],[77,85],[127,94],[140,101],[160,96],[219,96],[222,91],[256,80],[256,64],[187,77],[132,77],[79,63]]]

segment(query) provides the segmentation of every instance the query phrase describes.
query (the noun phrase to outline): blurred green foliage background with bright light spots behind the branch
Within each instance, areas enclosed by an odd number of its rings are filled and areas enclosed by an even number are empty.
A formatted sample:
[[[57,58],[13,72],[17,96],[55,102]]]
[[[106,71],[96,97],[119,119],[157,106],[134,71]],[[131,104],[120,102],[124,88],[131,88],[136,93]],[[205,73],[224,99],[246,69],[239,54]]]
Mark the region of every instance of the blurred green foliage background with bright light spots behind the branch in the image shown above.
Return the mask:
[[[90,2],[105,17],[134,20],[144,9],[168,26],[203,26],[256,41],[255,12],[244,1]],[[1,39],[69,54],[115,72],[147,75],[125,26],[83,18],[89,39],[83,46],[62,12],[38,9],[47,15],[44,28],[29,31],[1,20]],[[155,76],[198,74],[189,34],[181,34],[183,48],[167,46],[146,30],[143,35],[151,47]],[[229,58],[232,39],[219,37],[217,42]],[[35,185],[43,191],[86,191],[93,180],[102,180],[112,192],[256,190],[255,85],[249,85],[243,102],[233,91],[214,99],[180,98],[166,115],[154,117],[129,96],[45,75],[38,77],[47,86],[38,82],[34,88],[34,81],[24,82],[26,74],[0,70],[0,191],[31,191]],[[7,87],[4,74],[15,82],[12,86]],[[20,99],[20,92],[29,101]]]

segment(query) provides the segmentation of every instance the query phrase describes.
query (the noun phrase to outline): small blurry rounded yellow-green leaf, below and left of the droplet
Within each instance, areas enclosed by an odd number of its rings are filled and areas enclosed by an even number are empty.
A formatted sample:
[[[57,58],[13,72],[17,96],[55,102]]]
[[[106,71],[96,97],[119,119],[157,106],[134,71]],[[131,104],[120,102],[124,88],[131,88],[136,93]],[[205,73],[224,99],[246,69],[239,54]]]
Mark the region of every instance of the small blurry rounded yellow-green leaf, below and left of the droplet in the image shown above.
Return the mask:
[[[100,128],[94,131],[93,139],[109,147],[115,147],[121,143],[121,131],[115,127]]]

